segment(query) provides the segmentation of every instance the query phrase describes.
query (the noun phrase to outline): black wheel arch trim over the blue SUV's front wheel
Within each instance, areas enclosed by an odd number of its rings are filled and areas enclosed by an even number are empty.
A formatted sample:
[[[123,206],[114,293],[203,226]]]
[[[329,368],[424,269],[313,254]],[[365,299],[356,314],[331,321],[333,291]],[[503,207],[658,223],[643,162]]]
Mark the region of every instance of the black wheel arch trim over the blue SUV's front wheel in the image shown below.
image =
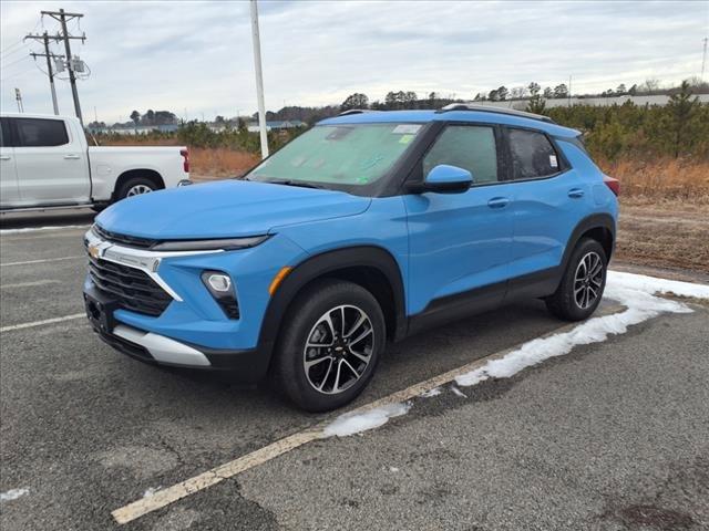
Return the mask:
[[[407,335],[405,296],[401,269],[394,257],[377,246],[357,246],[325,251],[297,264],[271,296],[258,339],[258,352],[270,360],[282,320],[297,294],[308,283],[341,269],[373,268],[384,275],[393,295],[393,340]],[[373,293],[377,296],[377,293]]]

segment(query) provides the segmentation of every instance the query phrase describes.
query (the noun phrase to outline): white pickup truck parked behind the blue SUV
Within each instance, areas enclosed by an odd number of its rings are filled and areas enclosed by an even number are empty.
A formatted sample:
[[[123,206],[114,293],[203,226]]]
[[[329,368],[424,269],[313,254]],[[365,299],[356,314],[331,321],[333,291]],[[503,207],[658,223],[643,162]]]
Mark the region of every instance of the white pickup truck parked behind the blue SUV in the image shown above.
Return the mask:
[[[73,116],[0,115],[0,210],[86,206],[189,184],[186,147],[89,146]]]

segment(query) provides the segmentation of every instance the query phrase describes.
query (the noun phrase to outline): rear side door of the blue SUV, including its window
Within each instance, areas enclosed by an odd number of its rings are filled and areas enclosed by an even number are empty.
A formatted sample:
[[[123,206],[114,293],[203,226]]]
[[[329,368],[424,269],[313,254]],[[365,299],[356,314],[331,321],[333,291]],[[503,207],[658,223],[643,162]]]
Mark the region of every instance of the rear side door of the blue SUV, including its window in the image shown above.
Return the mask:
[[[588,194],[545,133],[523,128],[505,133],[515,197],[511,274],[541,278],[548,273],[553,281],[568,238],[587,212]]]

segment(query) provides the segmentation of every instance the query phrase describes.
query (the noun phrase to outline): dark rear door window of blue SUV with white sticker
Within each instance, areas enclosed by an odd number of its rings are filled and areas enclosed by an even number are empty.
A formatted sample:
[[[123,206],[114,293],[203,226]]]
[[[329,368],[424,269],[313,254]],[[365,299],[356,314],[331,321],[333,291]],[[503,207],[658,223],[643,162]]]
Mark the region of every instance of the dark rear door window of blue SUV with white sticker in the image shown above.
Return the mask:
[[[514,179],[535,179],[559,171],[559,160],[545,135],[510,129],[510,150]]]

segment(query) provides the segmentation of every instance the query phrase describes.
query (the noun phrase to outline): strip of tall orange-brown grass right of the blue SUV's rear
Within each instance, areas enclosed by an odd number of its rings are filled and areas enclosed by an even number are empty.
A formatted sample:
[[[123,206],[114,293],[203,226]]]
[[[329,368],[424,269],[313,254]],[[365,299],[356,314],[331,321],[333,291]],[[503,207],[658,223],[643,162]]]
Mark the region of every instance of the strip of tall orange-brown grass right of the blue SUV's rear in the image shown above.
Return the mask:
[[[709,160],[626,158],[600,160],[600,168],[620,180],[620,200],[633,205],[686,202],[709,205]]]

